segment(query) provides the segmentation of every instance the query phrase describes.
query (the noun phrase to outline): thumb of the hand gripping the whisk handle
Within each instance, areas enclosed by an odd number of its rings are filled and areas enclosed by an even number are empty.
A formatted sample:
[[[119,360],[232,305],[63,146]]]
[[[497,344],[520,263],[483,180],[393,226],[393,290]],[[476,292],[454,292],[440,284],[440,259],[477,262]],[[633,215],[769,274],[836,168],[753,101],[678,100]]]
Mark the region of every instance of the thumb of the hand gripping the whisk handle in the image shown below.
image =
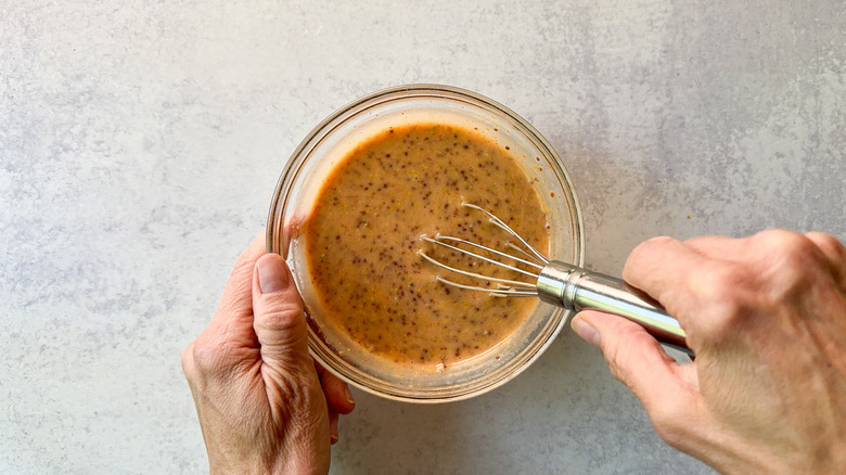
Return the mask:
[[[611,373],[634,393],[653,418],[676,406],[679,396],[690,394],[691,386],[698,386],[693,368],[677,363],[637,323],[585,310],[571,325],[579,336],[602,349]]]

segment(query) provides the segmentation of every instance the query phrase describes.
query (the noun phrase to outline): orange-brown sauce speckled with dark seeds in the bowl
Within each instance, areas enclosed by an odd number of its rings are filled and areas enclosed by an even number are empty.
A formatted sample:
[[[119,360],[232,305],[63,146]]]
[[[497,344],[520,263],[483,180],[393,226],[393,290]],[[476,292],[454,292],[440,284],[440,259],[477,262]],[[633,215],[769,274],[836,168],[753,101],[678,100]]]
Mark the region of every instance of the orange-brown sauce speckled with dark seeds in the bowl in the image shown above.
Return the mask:
[[[328,321],[371,354],[439,369],[507,338],[537,299],[447,286],[436,275],[496,284],[440,270],[418,254],[516,279],[422,240],[440,233],[507,249],[513,238],[462,203],[492,211],[548,252],[546,215],[528,176],[511,152],[478,132],[420,124],[388,129],[352,150],[332,170],[304,226],[311,284]]]

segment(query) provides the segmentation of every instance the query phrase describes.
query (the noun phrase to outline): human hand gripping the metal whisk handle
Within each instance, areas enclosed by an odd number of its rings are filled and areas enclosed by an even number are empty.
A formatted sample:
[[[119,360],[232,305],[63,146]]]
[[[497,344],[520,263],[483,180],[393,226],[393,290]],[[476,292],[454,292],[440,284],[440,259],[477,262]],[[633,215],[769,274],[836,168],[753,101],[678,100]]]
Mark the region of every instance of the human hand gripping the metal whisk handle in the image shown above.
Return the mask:
[[[669,445],[725,473],[846,471],[846,248],[821,233],[658,238],[624,279],[688,335],[678,364],[639,325],[572,322],[640,399]]]

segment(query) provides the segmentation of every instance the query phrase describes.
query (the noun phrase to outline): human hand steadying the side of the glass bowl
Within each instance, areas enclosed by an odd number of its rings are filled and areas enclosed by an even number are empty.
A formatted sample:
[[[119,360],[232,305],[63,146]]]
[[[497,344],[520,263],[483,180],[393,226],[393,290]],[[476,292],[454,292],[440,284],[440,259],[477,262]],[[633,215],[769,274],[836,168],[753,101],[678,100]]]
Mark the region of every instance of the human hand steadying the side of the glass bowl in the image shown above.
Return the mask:
[[[208,328],[182,354],[209,472],[326,473],[346,383],[308,354],[303,301],[264,232],[235,262]]]

